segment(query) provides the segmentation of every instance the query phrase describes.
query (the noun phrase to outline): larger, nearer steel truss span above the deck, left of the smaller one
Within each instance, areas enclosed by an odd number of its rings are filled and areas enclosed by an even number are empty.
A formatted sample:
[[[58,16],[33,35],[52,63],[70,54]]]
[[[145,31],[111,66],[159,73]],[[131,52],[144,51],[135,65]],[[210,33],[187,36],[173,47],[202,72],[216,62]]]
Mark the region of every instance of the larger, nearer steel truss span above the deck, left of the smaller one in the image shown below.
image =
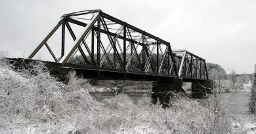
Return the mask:
[[[76,29],[77,26],[81,29],[80,35],[74,32],[75,28],[71,24],[76,25]],[[61,54],[57,57],[50,48],[53,44],[48,41],[59,27]],[[74,40],[71,44],[66,41],[68,35]],[[72,62],[72,58],[79,51],[83,64],[95,66],[97,69],[108,67],[122,72],[140,71],[156,75],[178,75],[169,42],[101,10],[85,10],[63,15],[60,22],[28,58],[34,58],[43,45],[47,46],[54,61],[62,63],[63,66]],[[72,48],[66,50],[66,46]]]

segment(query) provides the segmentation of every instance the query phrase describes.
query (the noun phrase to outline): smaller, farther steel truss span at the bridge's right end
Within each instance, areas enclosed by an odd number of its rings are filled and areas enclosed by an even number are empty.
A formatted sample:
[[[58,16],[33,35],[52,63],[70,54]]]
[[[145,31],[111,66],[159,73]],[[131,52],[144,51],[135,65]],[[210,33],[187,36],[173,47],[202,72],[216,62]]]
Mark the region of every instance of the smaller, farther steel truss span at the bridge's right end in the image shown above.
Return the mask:
[[[179,77],[208,79],[205,59],[186,50],[173,50]]]

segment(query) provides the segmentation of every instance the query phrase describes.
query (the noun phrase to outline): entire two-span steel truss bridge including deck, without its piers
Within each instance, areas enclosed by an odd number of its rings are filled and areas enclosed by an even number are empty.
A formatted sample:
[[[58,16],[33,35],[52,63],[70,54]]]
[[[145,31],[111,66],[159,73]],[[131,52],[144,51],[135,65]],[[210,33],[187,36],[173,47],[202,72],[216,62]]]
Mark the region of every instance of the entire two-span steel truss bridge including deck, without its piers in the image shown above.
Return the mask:
[[[45,62],[58,74],[73,69],[85,78],[209,81],[205,59],[172,50],[169,42],[101,10],[64,14],[26,61],[37,60],[40,51],[49,51],[53,61]]]

